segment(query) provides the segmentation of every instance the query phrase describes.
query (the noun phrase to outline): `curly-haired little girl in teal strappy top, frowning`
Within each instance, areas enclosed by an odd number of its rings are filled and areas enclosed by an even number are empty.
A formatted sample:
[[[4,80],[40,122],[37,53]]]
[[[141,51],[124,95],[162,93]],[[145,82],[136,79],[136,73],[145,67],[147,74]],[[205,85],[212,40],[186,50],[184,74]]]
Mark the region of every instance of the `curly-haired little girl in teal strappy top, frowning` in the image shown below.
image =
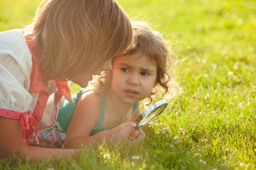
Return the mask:
[[[157,85],[164,89],[163,94],[168,92],[169,52],[163,38],[135,22],[133,40],[135,46],[113,59],[111,72],[93,79],[94,90],[79,91],[73,97],[74,104],[59,110],[56,127],[62,139],[66,137],[66,148],[102,142],[108,135],[106,130],[139,117],[139,101],[146,97],[152,101]],[[139,130],[136,139],[143,138],[145,133]]]

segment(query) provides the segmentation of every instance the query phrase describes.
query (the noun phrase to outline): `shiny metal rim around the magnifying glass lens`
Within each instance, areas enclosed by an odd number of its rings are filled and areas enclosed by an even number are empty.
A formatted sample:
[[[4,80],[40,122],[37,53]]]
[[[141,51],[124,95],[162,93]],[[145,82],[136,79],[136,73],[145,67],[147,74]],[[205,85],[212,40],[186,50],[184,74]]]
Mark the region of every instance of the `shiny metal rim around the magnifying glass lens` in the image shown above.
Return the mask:
[[[152,118],[150,121],[146,122],[145,124],[141,124],[144,120],[144,118],[146,118],[151,112],[154,111],[154,109],[157,109],[160,106],[163,106],[163,109],[161,110],[161,112],[158,114],[160,115],[164,109],[166,109],[168,103],[166,102],[166,100],[159,100],[156,103],[152,104],[151,106],[149,106],[147,109],[145,109],[144,112],[142,112],[141,115],[139,115],[139,117],[136,119],[135,123],[138,125],[138,127],[144,127],[146,124],[149,124],[151,121],[153,121],[155,118],[157,118],[158,115],[156,115],[154,118]]]

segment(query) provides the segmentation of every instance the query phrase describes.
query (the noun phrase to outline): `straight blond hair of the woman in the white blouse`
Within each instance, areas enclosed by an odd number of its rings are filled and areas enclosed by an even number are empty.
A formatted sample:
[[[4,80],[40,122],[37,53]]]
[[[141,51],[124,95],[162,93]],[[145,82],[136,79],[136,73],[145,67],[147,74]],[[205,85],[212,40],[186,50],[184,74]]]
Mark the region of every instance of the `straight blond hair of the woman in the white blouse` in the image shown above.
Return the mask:
[[[44,0],[25,30],[35,35],[41,70],[55,79],[98,70],[132,39],[130,19],[114,0]]]

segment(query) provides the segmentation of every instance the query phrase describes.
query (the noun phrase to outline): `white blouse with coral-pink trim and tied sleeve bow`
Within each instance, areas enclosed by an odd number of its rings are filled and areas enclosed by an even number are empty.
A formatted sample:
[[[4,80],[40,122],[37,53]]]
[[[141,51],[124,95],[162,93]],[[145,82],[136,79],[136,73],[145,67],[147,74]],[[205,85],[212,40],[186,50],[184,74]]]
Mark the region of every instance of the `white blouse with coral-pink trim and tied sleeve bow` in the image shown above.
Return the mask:
[[[68,82],[44,85],[34,46],[32,34],[20,29],[0,32],[0,116],[20,120],[28,143],[32,133],[53,127],[65,98],[71,101]]]

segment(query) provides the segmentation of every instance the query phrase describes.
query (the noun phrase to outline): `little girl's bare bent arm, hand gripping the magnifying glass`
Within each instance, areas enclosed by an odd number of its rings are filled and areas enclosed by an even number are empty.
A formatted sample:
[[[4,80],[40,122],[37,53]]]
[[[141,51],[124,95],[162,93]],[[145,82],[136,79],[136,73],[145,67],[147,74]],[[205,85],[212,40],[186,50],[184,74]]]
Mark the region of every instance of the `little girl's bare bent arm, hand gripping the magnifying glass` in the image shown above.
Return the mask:
[[[90,143],[114,142],[130,137],[136,125],[132,122],[120,124],[111,130],[104,130],[94,136],[90,136],[93,127],[98,123],[102,112],[102,100],[98,93],[89,91],[81,94],[78,99],[72,121],[66,136],[66,148],[79,148]],[[138,134],[137,134],[138,135]]]

